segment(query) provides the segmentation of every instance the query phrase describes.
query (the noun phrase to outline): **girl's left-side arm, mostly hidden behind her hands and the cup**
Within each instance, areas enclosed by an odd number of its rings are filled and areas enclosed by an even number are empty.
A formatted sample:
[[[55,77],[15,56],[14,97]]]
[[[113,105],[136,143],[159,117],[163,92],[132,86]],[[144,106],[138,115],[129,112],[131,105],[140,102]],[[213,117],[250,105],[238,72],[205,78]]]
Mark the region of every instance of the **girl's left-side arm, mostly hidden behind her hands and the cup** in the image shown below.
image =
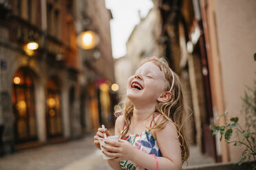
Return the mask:
[[[115,135],[120,136],[120,132],[122,130],[122,123],[124,122],[124,116],[121,115],[116,119],[116,124],[115,124]],[[121,169],[120,162],[117,159],[111,159],[107,160],[107,163],[109,166],[113,169]]]

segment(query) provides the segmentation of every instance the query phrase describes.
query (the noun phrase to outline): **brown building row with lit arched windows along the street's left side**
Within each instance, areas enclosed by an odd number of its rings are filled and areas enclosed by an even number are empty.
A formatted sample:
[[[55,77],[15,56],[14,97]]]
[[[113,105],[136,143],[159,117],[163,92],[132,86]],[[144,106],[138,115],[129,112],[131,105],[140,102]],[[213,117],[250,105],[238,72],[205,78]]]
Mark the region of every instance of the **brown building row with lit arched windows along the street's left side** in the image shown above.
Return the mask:
[[[76,43],[84,31],[79,23],[85,19],[77,12],[82,5],[95,5],[98,13],[103,12],[89,23],[104,25],[94,26],[96,32],[100,29],[100,45],[91,51]],[[109,85],[114,82],[111,13],[105,2],[10,0],[1,2],[0,8],[1,154],[78,138],[102,122],[111,122],[101,114],[111,113]],[[36,42],[38,49],[30,50],[29,42]],[[95,55],[97,62],[88,59]],[[105,72],[99,71],[102,63],[109,63]]]

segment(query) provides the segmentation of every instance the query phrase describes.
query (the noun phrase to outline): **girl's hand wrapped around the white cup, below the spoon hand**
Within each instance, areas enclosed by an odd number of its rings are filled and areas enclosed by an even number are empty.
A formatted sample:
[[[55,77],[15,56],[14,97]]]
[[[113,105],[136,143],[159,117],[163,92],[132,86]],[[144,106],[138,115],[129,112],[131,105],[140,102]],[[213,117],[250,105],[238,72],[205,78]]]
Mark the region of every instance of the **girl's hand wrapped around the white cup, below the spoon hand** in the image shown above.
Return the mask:
[[[119,141],[106,141],[105,145],[103,145],[107,151],[103,153],[107,156],[114,157],[114,161],[118,160],[131,160],[131,156],[134,155],[134,151],[137,149],[134,148],[131,143],[128,141],[119,139]]]

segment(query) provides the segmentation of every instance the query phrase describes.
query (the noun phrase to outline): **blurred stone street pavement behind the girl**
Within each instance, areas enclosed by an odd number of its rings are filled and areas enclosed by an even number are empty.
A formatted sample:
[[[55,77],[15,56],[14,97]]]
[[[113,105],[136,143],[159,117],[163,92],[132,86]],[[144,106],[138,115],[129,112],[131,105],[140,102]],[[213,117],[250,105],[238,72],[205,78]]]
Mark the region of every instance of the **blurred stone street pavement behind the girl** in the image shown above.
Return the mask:
[[[74,141],[43,145],[15,151],[0,157],[1,170],[92,170],[111,169],[102,153],[93,143],[93,135]],[[214,160],[200,154],[198,147],[191,146],[189,166],[213,163]],[[185,165],[184,165],[185,166]]]

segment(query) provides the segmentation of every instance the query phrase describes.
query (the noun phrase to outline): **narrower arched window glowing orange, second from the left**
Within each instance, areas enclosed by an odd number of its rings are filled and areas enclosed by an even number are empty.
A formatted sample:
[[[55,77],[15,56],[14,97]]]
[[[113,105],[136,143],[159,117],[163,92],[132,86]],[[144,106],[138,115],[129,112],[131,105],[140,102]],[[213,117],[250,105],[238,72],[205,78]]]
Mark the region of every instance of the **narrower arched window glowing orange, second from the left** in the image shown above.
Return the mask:
[[[62,135],[61,119],[61,91],[59,82],[56,78],[51,78],[47,82],[47,137]]]

